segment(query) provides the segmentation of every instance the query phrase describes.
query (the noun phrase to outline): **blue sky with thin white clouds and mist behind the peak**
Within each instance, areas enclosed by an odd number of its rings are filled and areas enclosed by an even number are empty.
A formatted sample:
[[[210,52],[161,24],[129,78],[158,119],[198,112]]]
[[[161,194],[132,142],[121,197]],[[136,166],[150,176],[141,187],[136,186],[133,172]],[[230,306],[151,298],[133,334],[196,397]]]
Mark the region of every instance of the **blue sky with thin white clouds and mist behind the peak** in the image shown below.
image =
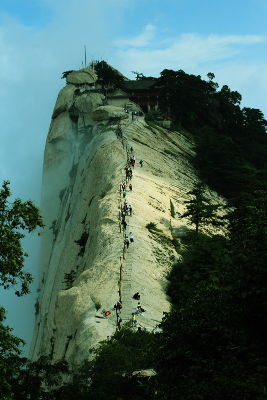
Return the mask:
[[[265,0],[3,0],[0,74],[0,178],[15,197],[40,205],[43,154],[62,72],[104,59],[129,78],[164,68],[201,75],[242,95],[267,117]],[[100,54],[100,55],[99,55]],[[81,56],[82,55],[82,56]],[[80,58],[81,57],[81,58]],[[31,341],[39,284],[39,240],[28,237],[26,267],[36,282],[16,298],[0,291],[14,333]],[[27,353],[28,349],[26,349]]]

